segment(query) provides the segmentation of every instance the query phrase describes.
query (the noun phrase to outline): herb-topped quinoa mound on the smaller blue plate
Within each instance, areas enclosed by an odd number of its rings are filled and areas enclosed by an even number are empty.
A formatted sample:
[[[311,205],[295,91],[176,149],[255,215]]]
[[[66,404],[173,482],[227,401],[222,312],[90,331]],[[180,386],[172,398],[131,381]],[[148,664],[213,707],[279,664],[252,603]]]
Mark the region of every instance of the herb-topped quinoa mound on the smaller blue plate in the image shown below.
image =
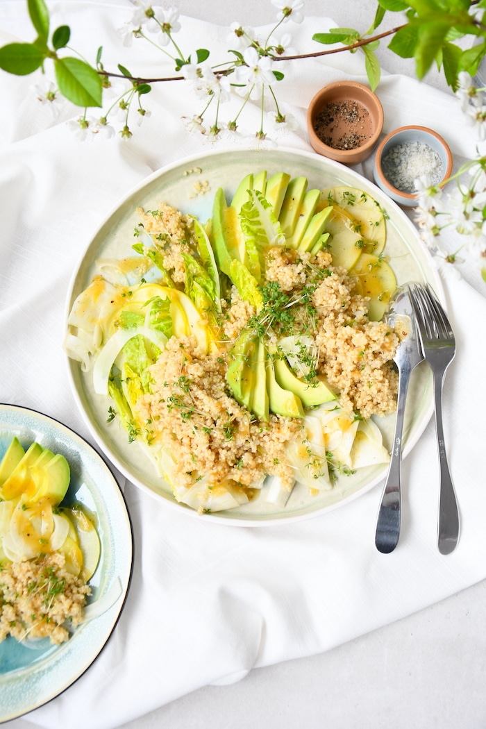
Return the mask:
[[[46,638],[60,644],[82,620],[90,587],[64,569],[59,552],[23,562],[0,563],[0,642]]]

